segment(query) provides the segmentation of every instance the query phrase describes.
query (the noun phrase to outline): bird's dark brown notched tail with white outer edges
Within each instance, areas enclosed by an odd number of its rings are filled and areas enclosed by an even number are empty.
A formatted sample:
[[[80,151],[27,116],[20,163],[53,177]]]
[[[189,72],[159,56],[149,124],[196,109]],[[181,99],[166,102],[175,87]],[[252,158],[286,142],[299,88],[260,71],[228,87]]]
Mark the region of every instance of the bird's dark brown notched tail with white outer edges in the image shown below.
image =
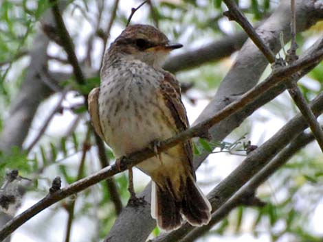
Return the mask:
[[[208,224],[211,219],[211,205],[193,178],[188,176],[177,194],[168,180],[167,186],[152,184],[151,216],[163,230],[176,230],[183,217],[192,226]],[[166,187],[166,188],[165,188]]]

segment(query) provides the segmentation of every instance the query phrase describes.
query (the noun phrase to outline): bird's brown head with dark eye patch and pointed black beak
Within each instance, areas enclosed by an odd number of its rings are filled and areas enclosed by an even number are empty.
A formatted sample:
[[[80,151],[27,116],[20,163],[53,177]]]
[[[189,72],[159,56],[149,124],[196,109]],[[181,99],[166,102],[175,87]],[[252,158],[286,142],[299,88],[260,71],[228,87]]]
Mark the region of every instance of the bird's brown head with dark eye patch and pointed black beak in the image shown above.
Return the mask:
[[[112,43],[108,55],[134,58],[161,67],[168,53],[182,46],[170,43],[165,34],[151,25],[130,25]]]

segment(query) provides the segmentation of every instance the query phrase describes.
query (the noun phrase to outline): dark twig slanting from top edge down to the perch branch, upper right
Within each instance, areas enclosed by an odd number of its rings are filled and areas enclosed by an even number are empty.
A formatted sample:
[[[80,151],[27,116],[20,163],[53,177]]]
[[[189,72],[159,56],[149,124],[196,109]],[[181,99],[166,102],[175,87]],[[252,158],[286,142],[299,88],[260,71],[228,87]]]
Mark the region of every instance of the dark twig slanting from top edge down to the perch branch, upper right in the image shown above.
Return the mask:
[[[243,13],[238,9],[234,0],[223,0],[229,11],[225,12],[224,15],[227,16],[230,20],[238,22],[241,27],[245,30],[248,36],[254,41],[255,45],[260,49],[261,52],[265,55],[269,63],[274,63],[276,58],[274,52],[265,45],[264,41],[254,30],[254,27],[247,21]]]

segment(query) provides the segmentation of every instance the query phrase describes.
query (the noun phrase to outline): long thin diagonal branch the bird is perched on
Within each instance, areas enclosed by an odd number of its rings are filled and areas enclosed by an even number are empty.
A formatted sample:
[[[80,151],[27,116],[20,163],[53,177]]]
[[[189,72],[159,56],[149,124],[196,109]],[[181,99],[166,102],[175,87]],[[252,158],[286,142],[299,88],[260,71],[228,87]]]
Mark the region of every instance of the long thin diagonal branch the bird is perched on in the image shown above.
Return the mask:
[[[296,73],[297,71],[300,71],[303,68],[311,66],[313,62],[318,61],[322,58],[323,50],[320,50],[311,56],[301,58],[300,60],[294,62],[290,66],[280,67],[280,69],[277,69],[274,73],[272,73],[267,78],[267,80],[265,80],[265,82],[262,82],[258,84],[258,86],[249,90],[247,93],[241,96],[241,99],[232,102],[232,104],[229,104],[226,108],[223,108],[221,112],[215,114],[214,117],[206,119],[198,125],[195,125],[194,127],[186,131],[183,131],[172,138],[168,138],[166,141],[162,141],[158,147],[159,152],[163,152],[166,149],[169,149],[170,147],[177,145],[178,143],[187,141],[188,139],[193,138],[195,136],[199,136],[200,134],[205,134],[205,130],[208,130],[208,128],[212,127],[212,125],[219,123],[219,121],[222,121],[223,119],[230,117],[232,114],[238,112],[238,110],[241,110],[243,106],[246,106],[247,104],[251,103],[256,97],[269,90],[269,88],[271,88],[272,86],[276,86],[276,84],[282,82],[283,80],[286,80],[287,76],[293,75],[293,73]],[[320,98],[316,101],[322,101],[322,96],[323,95],[321,95]],[[320,108],[323,107],[322,104],[318,106],[319,107],[316,107],[318,110],[320,110]],[[321,111],[322,110],[320,110],[320,112]],[[258,149],[256,149],[256,151],[257,150]],[[96,184],[104,179],[110,178],[117,173],[125,171],[126,169],[129,169],[130,167],[137,165],[142,160],[146,160],[153,156],[155,156],[155,152],[151,149],[150,145],[148,145],[148,147],[138,152],[133,152],[129,156],[123,157],[119,162],[120,165],[118,166],[111,165],[109,167],[105,167],[97,173],[87,176],[87,178],[83,178],[78,182],[74,182],[73,184],[70,184],[69,186],[66,186],[63,189],[60,189],[60,191],[57,191],[56,193],[51,193],[47,195],[39,202],[34,204],[34,206],[28,208],[20,215],[14,217],[14,219],[8,221],[8,223],[6,223],[5,226],[3,226],[3,228],[0,230],[0,241],[5,239],[5,237],[8,237],[10,233],[14,232],[16,228],[19,228],[19,226],[28,221],[30,218],[34,217],[34,215],[40,213],[42,210],[48,208],[52,204],[68,197],[69,195],[87,189],[89,186],[93,186],[93,184]]]

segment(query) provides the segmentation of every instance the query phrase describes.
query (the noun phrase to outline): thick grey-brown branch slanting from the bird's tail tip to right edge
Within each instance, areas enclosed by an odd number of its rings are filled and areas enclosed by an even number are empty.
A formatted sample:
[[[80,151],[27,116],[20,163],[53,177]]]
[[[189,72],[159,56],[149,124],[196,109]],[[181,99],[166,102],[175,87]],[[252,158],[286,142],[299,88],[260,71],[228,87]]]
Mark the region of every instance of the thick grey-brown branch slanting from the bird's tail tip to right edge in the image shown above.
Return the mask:
[[[311,108],[316,115],[323,112],[323,93],[318,95],[312,101]],[[227,202],[238,189],[251,180],[256,173],[265,167],[271,158],[274,158],[280,150],[282,150],[293,138],[307,128],[307,123],[304,121],[301,114],[291,119],[284,127],[282,127],[274,136],[263,143],[260,147],[251,152],[245,160],[239,165],[227,178],[225,178],[218,186],[215,187],[209,194],[208,199],[212,204],[212,211],[216,211]],[[241,204],[241,201],[239,201]],[[230,206],[236,206],[230,204]],[[213,215],[212,215],[213,217]],[[174,230],[167,234],[161,234],[151,242],[170,242],[179,241],[194,229],[189,223],[184,223],[181,228]]]

